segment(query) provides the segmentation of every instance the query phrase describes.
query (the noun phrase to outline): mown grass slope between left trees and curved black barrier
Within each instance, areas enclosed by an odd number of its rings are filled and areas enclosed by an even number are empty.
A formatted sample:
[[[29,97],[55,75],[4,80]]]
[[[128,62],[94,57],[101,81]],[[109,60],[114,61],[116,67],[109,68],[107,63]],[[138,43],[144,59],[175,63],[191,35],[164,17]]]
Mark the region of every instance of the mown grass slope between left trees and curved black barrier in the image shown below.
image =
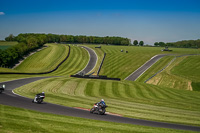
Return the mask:
[[[46,72],[54,69],[68,54],[68,47],[48,44],[44,50],[28,57],[15,69],[21,72]]]

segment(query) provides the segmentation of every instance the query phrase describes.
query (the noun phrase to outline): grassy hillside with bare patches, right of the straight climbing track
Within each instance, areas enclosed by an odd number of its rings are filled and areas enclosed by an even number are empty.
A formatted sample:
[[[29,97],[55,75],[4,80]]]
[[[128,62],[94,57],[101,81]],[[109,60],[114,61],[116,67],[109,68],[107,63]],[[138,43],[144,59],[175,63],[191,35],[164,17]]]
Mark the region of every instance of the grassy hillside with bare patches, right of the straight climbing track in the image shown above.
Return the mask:
[[[146,71],[137,81],[144,82],[156,72],[164,68],[170,61],[173,62],[161,73],[147,83],[185,90],[199,91],[200,85],[200,56],[165,57]]]

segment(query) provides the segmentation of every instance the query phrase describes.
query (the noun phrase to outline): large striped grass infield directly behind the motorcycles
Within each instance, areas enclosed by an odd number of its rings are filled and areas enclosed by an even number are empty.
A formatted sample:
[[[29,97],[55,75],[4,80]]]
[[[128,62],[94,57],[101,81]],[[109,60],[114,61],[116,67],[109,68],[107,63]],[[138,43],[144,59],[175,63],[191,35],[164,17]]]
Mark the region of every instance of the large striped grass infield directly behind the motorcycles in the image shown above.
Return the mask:
[[[77,78],[44,79],[14,91],[30,98],[45,91],[45,101],[70,107],[91,108],[104,98],[108,112],[200,126],[200,97],[195,92],[130,81]]]

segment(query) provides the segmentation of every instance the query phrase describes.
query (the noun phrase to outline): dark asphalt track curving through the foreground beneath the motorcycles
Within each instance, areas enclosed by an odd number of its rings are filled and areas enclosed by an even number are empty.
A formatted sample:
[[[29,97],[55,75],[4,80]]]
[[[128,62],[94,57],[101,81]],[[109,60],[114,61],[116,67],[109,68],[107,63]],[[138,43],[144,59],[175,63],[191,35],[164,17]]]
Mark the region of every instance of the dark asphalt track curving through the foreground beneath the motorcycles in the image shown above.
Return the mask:
[[[32,99],[16,95],[12,92],[13,89],[15,88],[18,88],[25,84],[28,84],[37,80],[45,79],[45,78],[53,78],[53,77],[34,77],[34,78],[26,78],[26,79],[18,79],[18,80],[13,80],[13,81],[2,82],[1,84],[6,85],[6,90],[2,94],[0,94],[0,104],[20,107],[20,108],[25,108],[25,109],[30,109],[30,110],[35,110],[35,111],[40,111],[40,112],[45,112],[45,113],[67,115],[67,116],[81,117],[81,118],[94,119],[94,120],[143,125],[143,126],[151,126],[151,127],[160,127],[160,128],[171,128],[171,129],[179,129],[179,130],[200,131],[200,127],[196,127],[196,126],[187,126],[187,125],[180,125],[180,124],[155,122],[155,121],[149,121],[149,120],[140,120],[140,119],[115,116],[115,115],[90,114],[89,111],[86,111],[86,110],[56,105],[56,104],[47,103],[47,102],[44,102],[42,104],[35,104],[35,103],[32,103]]]

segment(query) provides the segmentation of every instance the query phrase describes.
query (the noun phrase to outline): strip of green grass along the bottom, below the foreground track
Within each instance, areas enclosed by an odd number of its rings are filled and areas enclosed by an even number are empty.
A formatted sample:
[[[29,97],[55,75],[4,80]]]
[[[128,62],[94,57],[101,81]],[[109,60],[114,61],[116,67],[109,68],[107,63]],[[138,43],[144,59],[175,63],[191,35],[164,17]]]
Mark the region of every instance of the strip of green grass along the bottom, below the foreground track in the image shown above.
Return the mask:
[[[1,133],[191,133],[191,131],[53,115],[4,105],[0,105],[0,112]]]

